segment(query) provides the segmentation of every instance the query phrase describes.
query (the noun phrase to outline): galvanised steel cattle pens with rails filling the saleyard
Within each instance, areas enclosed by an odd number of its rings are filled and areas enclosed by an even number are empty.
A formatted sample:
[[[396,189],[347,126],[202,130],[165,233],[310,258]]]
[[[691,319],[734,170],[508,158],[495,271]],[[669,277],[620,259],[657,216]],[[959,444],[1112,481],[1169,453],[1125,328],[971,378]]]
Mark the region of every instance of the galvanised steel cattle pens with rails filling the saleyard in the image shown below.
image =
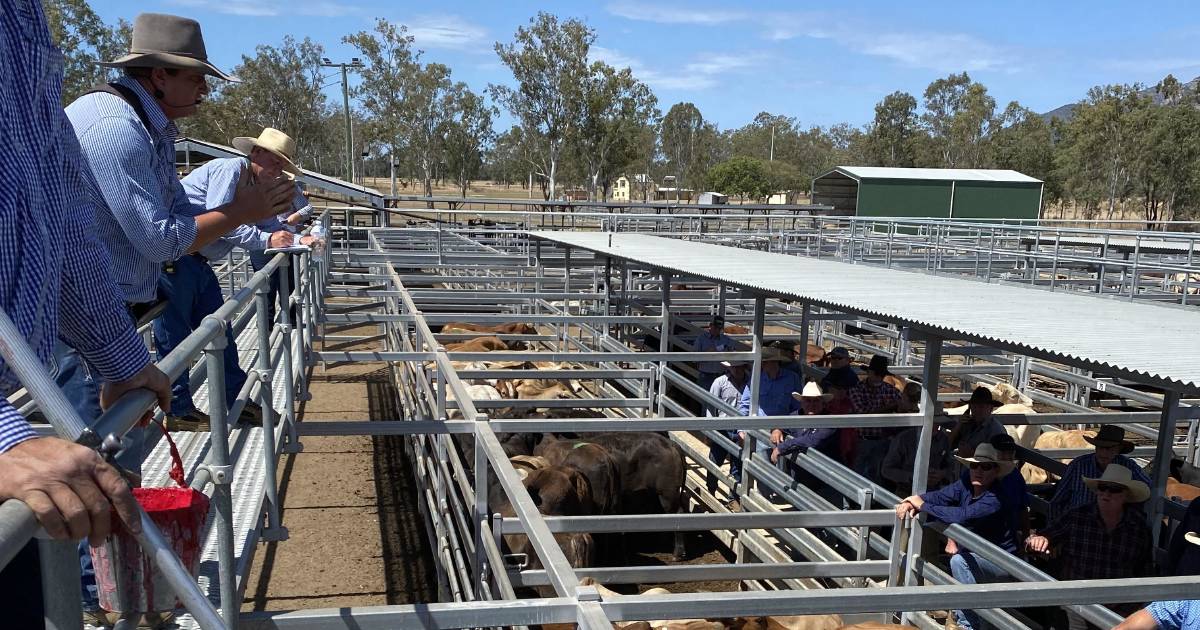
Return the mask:
[[[630,620],[838,613],[876,622],[900,616],[919,628],[940,628],[930,611],[974,607],[989,623],[1015,629],[1036,626],[1022,610],[1062,605],[1110,628],[1120,617],[1105,604],[1188,599],[1200,587],[1196,577],[1055,581],[960,526],[898,520],[893,506],[900,497],[816,450],[793,456],[792,463],[833,493],[797,482],[755,449],[781,425],[916,427],[923,445],[913,468],[919,492],[929,463],[926,438],[936,424],[949,421],[942,403],[964,400],[976,384],[1007,383],[1043,410],[1001,416],[1006,425],[1052,431],[1118,424],[1141,438],[1132,455],[1153,462],[1148,518],[1174,526],[1183,505],[1164,494],[1168,467],[1172,456],[1195,462],[1200,420],[1200,313],[1187,299],[1198,270],[1188,236],[1172,235],[1182,247],[1142,252],[1139,239],[1148,236],[1138,233],[1072,233],[1055,241],[1072,248],[1068,256],[1044,252],[1044,233],[1012,226],[950,229],[872,218],[866,227],[842,217],[773,218],[736,210],[715,217],[580,212],[577,220],[587,222],[580,226],[560,214],[527,209],[508,223],[472,226],[448,217],[391,227],[392,209],[371,212],[370,226],[355,224],[355,212],[330,209],[322,217],[330,246],[319,259],[281,256],[256,274],[244,260],[230,260],[226,277],[241,288],[191,343],[164,360],[170,376],[192,370],[194,377],[220,377],[221,332],[232,325],[242,348],[251,348],[244,360],[253,368],[236,402],[259,400],[270,410],[262,428],[242,427],[227,437],[223,414],[215,413],[212,432],[181,436],[192,486],[214,494],[216,512],[199,588],[192,584],[185,594],[182,582],[173,582],[192,613],[180,617],[181,626],[599,629]],[[1110,247],[1085,251],[1097,245],[1087,239]],[[1132,248],[1120,248],[1128,244]],[[1040,263],[1045,256],[1052,257],[1049,268]],[[276,268],[289,278],[283,294],[295,308],[281,310],[270,322],[266,283]],[[1068,277],[1058,278],[1060,272]],[[1084,294],[1092,289],[1102,295]],[[746,328],[734,335],[743,347],[694,352],[690,338],[714,313]],[[440,330],[448,323],[510,322],[528,323],[533,331],[498,338],[524,349],[446,349],[475,335]],[[364,335],[365,328],[373,330]],[[776,340],[844,346],[860,358],[886,355],[893,372],[923,385],[919,410],[803,420],[756,415],[761,350]],[[193,366],[200,353],[205,360]],[[689,364],[697,360],[751,362],[750,416],[694,384]],[[497,361],[508,365],[491,365]],[[311,374],[335,362],[385,366],[400,396],[397,416],[370,422],[300,418],[296,404],[307,396]],[[804,370],[821,374],[818,367]],[[476,398],[469,389],[522,377],[578,386],[553,400]],[[60,433],[77,437],[80,427],[62,421],[70,410],[31,384],[36,379],[23,376],[29,396]],[[217,391],[212,397],[224,402]],[[730,415],[697,415],[697,403]],[[122,434],[139,404],[149,404],[145,395],[114,407],[95,434]],[[749,439],[738,448],[720,430],[745,430]],[[686,509],[540,514],[498,433],[546,432],[667,434],[688,466]],[[403,438],[418,485],[410,500],[421,510],[434,551],[438,600],[239,614],[256,545],[287,538],[275,481],[280,454],[302,457],[306,437],[354,434]],[[695,436],[740,457],[740,476],[713,464]],[[463,449],[458,438],[469,438],[473,448]],[[164,476],[163,450],[148,460],[155,462],[148,480]],[[1020,457],[1054,473],[1064,468],[1061,458],[1082,452],[1022,448]],[[709,474],[719,482],[715,493],[706,487]],[[493,514],[492,487],[503,492],[511,515]],[[734,487],[740,509],[731,511]],[[1034,499],[1033,509],[1044,504]],[[0,564],[34,529],[23,506],[0,505]],[[572,566],[556,536],[653,532],[710,533],[733,562]],[[1159,532],[1169,529],[1154,532],[1156,553],[1163,554]],[[541,568],[505,548],[505,536],[514,535],[528,539]],[[924,538],[946,535],[1013,581],[956,583],[922,557]],[[61,544],[41,547],[47,550],[43,581],[53,586],[74,559]],[[581,584],[588,577],[605,586],[726,580],[740,589],[611,594]],[[535,596],[529,593],[535,587],[553,594]],[[52,596],[48,616],[70,618],[78,605],[72,610],[68,600]]]

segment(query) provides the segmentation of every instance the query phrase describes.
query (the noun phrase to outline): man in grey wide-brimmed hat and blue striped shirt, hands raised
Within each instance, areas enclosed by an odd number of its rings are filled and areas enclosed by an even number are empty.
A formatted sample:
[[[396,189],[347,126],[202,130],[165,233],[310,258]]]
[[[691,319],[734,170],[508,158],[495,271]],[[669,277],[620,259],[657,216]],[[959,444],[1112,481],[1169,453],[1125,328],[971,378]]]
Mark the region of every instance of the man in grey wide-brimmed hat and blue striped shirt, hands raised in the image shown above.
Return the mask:
[[[157,300],[163,264],[198,251],[242,223],[271,216],[290,202],[287,180],[250,182],[230,203],[203,211],[191,205],[175,173],[175,120],[196,113],[205,76],[232,79],[211,64],[196,20],[142,13],[130,54],[112,62],[125,77],[67,106],[66,114],[95,175],[96,235],[108,248],[113,276],[134,317]],[[278,208],[278,209],[277,209]],[[91,421],[98,412],[88,368],[71,348],[55,348],[58,380]],[[130,432],[121,463],[138,469],[140,430]]]

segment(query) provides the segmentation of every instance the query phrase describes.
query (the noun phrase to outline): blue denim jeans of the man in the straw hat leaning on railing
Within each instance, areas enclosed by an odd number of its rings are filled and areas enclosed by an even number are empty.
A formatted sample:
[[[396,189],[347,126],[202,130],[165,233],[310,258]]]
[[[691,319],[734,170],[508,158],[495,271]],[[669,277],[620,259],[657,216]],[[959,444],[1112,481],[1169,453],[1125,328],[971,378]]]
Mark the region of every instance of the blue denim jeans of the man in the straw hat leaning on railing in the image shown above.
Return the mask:
[[[167,308],[154,320],[154,342],[158,359],[167,356],[196,330],[205,317],[216,312],[224,301],[221,284],[212,268],[197,256],[175,260],[175,270],[158,276],[158,293],[168,300]],[[238,344],[226,328],[224,349],[226,404],[229,404],[246,383],[246,372],[238,365]],[[211,379],[209,385],[212,386]],[[196,409],[187,371],[170,388],[170,413],[184,415]]]

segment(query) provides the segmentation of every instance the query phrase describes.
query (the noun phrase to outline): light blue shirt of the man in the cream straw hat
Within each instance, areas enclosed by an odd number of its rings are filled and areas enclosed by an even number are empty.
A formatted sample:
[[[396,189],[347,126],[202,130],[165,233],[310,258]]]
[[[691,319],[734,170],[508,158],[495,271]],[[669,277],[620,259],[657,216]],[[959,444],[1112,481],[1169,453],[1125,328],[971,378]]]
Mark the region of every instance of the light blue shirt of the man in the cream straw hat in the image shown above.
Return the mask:
[[[209,160],[202,167],[188,173],[180,184],[187,193],[187,200],[197,209],[212,210],[233,202],[238,193],[238,179],[247,168],[245,158],[222,157]],[[283,229],[278,217],[269,217],[253,226],[238,226],[224,236],[200,247],[200,254],[209,260],[220,260],[234,247],[263,251],[271,233]]]

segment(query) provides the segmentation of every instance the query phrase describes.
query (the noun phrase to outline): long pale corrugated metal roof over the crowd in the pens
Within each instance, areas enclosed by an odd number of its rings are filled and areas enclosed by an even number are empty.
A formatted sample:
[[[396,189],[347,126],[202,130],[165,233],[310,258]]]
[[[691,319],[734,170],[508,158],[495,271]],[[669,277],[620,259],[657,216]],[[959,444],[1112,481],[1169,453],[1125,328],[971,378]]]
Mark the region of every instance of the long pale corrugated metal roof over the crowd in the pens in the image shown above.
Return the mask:
[[[643,234],[530,235],[1186,394],[1200,391],[1200,313],[1190,308]]]

